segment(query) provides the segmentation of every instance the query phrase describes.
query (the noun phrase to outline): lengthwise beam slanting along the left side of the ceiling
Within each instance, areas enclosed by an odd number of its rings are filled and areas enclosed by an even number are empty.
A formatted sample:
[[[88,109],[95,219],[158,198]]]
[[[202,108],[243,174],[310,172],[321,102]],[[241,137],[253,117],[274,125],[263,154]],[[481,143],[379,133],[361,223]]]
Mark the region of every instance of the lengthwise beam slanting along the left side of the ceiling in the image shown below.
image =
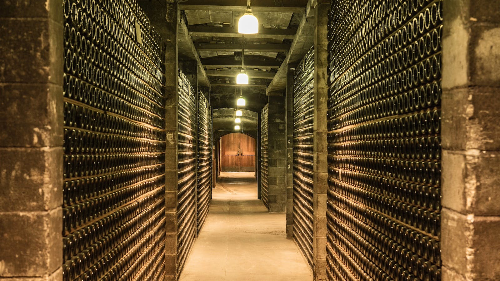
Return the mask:
[[[190,59],[196,60],[196,63],[198,65],[198,84],[200,84],[201,86],[209,87],[210,80],[206,75],[205,68],[201,64],[198,51],[194,47],[191,36],[189,36],[189,31],[187,31],[187,26],[183,19],[180,20],[180,23],[177,27],[177,44],[179,54],[183,54]]]

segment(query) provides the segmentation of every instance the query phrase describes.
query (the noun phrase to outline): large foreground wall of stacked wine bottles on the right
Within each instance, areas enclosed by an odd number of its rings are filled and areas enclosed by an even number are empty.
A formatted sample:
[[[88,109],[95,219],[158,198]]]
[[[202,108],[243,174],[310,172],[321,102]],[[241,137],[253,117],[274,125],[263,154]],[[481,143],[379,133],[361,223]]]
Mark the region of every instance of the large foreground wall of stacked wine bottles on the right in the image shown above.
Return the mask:
[[[331,3],[330,280],[440,280],[442,3]]]

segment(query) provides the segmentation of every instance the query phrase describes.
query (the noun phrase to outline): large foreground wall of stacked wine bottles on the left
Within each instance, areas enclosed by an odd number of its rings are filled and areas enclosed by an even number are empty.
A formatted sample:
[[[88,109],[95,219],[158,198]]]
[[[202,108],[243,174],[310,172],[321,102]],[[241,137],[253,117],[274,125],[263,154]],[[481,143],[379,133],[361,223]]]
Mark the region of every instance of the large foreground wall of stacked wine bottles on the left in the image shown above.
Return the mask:
[[[161,280],[165,79],[133,0],[63,0],[63,280]]]

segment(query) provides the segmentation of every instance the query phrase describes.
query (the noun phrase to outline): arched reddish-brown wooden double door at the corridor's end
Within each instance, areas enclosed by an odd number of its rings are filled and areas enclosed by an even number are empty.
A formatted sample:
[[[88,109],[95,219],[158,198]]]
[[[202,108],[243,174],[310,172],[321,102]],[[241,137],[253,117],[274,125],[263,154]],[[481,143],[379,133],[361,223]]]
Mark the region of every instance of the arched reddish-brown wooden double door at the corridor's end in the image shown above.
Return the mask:
[[[220,138],[221,171],[255,171],[255,138],[230,133]]]

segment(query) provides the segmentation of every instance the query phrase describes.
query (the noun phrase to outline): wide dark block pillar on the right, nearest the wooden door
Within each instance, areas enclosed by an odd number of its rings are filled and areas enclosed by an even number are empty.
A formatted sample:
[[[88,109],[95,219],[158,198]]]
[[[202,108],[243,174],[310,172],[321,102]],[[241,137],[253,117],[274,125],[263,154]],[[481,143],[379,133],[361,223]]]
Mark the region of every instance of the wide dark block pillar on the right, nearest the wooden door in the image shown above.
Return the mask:
[[[286,209],[285,97],[269,96],[268,102],[268,209],[270,212],[284,212]]]

